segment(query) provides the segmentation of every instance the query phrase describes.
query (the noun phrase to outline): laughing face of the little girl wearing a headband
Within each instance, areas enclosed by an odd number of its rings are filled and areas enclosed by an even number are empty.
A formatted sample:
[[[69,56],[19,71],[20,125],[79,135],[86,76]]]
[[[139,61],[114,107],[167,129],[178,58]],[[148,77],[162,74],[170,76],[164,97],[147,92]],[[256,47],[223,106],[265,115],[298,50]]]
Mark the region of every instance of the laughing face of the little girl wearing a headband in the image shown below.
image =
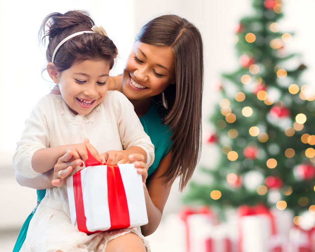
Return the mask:
[[[57,73],[60,93],[75,114],[89,114],[106,95],[110,66],[105,60],[84,60]]]

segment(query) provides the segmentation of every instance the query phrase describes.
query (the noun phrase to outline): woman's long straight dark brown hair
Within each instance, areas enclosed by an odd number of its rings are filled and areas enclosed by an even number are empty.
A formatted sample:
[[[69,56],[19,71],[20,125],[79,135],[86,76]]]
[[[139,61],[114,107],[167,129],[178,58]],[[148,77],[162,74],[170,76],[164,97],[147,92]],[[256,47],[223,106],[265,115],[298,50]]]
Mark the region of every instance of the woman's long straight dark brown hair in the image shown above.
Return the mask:
[[[174,53],[176,84],[158,98],[168,109],[164,123],[172,133],[172,159],[165,182],[180,176],[183,190],[198,163],[201,151],[201,104],[203,91],[203,45],[200,32],[176,15],[157,17],[143,26],[136,41],[170,46]]]

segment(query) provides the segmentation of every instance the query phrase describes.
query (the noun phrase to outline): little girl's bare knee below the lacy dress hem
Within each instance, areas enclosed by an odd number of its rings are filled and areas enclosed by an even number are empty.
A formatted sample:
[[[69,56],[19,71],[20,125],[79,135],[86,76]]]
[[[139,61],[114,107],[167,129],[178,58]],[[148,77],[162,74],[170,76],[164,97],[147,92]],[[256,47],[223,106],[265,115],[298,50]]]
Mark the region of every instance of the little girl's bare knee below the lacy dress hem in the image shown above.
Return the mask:
[[[146,252],[146,247],[138,235],[128,233],[109,241],[106,252]]]

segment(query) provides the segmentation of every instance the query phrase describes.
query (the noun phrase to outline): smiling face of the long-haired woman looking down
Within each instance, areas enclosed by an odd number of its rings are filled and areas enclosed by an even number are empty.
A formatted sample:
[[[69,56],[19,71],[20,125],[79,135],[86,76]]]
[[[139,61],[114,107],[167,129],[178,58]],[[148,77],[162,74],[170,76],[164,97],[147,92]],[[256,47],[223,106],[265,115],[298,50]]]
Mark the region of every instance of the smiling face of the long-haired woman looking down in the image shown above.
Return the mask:
[[[175,83],[172,48],[135,42],[123,71],[123,94],[130,100],[151,100],[170,83]]]

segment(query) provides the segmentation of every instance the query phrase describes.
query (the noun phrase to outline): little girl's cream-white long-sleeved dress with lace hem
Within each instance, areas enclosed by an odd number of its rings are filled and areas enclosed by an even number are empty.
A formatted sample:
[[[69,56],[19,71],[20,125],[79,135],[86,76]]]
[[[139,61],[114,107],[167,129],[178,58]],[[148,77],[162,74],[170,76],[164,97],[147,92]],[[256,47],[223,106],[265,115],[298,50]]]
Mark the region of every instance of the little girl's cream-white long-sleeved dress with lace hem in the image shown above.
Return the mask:
[[[45,95],[26,120],[26,128],[13,156],[14,168],[22,176],[34,178],[31,165],[34,152],[41,148],[82,143],[84,138],[99,153],[140,146],[147,164],[154,160],[154,146],[146,135],[130,101],[118,91],[108,91],[104,100],[88,115],[74,115],[60,95]],[[81,168],[80,168],[81,169]],[[66,186],[46,190],[27,231],[20,251],[105,251],[106,243],[128,232],[150,245],[140,228],[99,232],[91,235],[72,226]]]

